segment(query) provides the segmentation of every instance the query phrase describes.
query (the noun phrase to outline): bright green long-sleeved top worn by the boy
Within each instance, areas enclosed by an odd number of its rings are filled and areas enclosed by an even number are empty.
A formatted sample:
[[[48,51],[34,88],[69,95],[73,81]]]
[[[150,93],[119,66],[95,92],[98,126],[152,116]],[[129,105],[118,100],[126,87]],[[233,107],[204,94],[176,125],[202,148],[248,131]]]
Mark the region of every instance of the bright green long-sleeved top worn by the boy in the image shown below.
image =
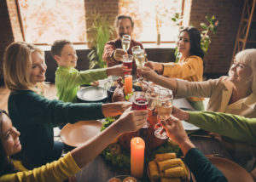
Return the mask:
[[[76,102],[80,85],[89,84],[107,77],[106,68],[78,71],[59,66],[55,71],[57,97],[63,102]]]

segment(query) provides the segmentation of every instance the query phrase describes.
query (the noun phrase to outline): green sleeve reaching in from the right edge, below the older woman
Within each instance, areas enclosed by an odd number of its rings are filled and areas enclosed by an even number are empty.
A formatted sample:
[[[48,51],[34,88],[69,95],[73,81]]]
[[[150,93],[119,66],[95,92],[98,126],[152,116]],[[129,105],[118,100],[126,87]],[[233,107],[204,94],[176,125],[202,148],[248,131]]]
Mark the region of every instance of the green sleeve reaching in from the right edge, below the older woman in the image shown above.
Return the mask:
[[[256,144],[256,118],[210,111],[189,111],[192,124],[207,131]]]

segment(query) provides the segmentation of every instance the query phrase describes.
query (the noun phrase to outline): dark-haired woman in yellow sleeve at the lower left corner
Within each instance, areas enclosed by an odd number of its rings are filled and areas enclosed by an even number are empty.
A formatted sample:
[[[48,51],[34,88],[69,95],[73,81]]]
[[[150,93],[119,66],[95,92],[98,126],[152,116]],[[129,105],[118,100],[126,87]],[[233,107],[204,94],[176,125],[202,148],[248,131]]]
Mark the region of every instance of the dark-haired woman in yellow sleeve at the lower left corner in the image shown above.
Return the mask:
[[[63,181],[79,172],[87,163],[99,155],[113,139],[126,132],[137,131],[143,127],[148,111],[130,111],[105,129],[101,134],[86,141],[58,161],[47,163],[40,168],[27,170],[20,161],[9,156],[21,150],[20,132],[13,127],[8,114],[0,110],[0,181]],[[23,148],[23,146],[22,146]]]

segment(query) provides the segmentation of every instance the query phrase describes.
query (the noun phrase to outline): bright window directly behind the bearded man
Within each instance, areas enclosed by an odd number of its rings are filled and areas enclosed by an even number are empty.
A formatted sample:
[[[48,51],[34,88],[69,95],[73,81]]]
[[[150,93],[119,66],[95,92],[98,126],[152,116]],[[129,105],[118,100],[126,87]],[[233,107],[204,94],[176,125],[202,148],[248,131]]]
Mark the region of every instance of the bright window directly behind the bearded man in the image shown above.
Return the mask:
[[[133,37],[140,42],[173,42],[178,27],[172,21],[175,13],[181,14],[183,0],[120,0],[119,14],[131,15],[134,20]]]

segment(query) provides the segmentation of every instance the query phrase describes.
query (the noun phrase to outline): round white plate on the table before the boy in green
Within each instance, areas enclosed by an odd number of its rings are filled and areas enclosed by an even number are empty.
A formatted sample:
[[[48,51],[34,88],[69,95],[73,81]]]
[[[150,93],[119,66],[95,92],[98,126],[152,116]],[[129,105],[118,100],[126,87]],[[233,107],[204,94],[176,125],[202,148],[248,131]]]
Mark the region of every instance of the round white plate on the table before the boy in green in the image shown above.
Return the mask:
[[[101,87],[87,87],[79,89],[77,93],[79,100],[84,101],[100,101],[107,98],[107,93]]]

